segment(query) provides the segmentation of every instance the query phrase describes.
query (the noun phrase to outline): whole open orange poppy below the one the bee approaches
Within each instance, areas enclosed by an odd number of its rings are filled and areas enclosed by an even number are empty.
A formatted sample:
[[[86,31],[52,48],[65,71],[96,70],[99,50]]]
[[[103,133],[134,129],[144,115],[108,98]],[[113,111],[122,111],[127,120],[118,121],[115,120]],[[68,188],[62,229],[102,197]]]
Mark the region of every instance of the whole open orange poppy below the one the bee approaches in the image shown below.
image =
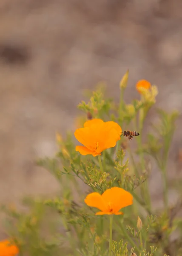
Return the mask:
[[[123,214],[120,209],[133,204],[133,196],[125,189],[113,187],[107,189],[102,195],[93,192],[85,198],[85,204],[100,209],[96,215]]]

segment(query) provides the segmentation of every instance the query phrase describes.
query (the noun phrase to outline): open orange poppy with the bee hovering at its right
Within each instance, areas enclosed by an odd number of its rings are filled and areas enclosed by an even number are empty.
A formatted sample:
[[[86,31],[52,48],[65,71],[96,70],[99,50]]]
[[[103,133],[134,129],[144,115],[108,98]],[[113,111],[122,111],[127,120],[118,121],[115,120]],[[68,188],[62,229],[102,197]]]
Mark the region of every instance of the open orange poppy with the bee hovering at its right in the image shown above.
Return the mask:
[[[84,146],[76,146],[76,151],[82,155],[100,155],[106,148],[112,148],[120,140],[122,129],[116,122],[104,122],[92,119],[84,123],[83,128],[74,132],[76,139]]]

